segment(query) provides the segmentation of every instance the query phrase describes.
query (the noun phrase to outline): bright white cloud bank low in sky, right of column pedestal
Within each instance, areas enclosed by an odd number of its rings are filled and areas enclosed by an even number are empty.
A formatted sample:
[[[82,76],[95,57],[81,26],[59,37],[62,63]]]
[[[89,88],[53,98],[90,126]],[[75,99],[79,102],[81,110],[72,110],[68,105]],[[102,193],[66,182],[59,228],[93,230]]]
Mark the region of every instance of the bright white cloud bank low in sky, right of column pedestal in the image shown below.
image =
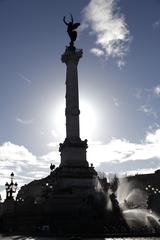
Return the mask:
[[[132,143],[126,139],[112,139],[108,144],[92,143],[88,148],[88,160],[101,171],[138,172],[160,167],[159,149],[160,129],[157,129],[148,132],[141,143]]]

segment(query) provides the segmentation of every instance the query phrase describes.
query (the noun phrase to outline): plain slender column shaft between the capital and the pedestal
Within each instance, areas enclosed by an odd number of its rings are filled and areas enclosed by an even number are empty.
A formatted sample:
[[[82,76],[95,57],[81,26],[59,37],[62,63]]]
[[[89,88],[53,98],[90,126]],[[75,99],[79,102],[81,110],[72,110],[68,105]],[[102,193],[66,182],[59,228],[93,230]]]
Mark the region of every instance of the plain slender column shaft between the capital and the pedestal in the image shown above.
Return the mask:
[[[77,63],[67,62],[66,73],[66,137],[79,138],[79,94]]]

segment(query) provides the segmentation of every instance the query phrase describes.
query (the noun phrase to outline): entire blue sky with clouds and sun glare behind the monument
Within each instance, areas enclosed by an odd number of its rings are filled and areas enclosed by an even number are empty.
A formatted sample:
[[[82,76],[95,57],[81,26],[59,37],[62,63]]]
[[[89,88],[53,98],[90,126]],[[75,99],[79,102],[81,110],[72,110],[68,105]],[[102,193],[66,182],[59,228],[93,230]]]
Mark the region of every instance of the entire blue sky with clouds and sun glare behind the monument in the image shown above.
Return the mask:
[[[160,168],[160,1],[0,0],[0,191],[10,173],[19,187],[60,163],[65,139],[72,13],[78,65],[81,139],[100,172]]]

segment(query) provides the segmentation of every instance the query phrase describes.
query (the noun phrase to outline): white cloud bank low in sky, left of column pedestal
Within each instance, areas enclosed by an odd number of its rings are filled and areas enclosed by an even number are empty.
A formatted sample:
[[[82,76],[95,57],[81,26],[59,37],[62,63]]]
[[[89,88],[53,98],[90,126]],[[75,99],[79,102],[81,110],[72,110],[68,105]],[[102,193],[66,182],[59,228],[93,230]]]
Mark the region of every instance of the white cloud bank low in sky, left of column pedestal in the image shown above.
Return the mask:
[[[51,162],[58,164],[58,151],[35,156],[26,147],[5,142],[0,145],[0,192],[4,196],[6,181],[9,181],[13,171],[19,188],[38,178],[45,177],[50,172]]]

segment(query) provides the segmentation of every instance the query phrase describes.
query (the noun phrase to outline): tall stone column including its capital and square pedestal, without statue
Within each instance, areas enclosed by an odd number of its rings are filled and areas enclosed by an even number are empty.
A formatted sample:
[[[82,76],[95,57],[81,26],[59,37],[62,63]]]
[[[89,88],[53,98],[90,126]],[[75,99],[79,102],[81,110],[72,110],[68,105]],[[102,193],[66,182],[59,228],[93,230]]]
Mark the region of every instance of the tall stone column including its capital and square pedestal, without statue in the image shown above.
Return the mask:
[[[87,140],[80,139],[79,130],[79,91],[78,62],[82,57],[82,49],[67,47],[62,55],[66,64],[66,139],[60,144],[61,166],[88,166],[86,160]]]

